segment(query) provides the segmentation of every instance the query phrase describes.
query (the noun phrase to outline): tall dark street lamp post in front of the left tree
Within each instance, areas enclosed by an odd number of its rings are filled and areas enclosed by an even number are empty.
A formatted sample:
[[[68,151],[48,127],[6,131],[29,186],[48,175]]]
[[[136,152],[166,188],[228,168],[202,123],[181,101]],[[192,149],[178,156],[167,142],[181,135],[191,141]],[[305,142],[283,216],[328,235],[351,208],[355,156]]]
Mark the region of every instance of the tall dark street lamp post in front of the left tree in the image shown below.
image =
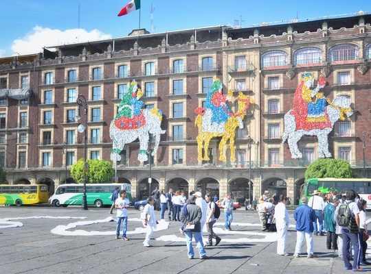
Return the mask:
[[[76,119],[81,119],[81,106],[84,107],[85,113],[85,127],[80,124],[78,126],[78,132],[84,132],[84,193],[82,195],[82,210],[87,210],[87,172],[89,171],[89,164],[87,163],[87,99],[85,99],[84,95],[80,94],[76,102],[78,103],[78,116],[76,116]]]

